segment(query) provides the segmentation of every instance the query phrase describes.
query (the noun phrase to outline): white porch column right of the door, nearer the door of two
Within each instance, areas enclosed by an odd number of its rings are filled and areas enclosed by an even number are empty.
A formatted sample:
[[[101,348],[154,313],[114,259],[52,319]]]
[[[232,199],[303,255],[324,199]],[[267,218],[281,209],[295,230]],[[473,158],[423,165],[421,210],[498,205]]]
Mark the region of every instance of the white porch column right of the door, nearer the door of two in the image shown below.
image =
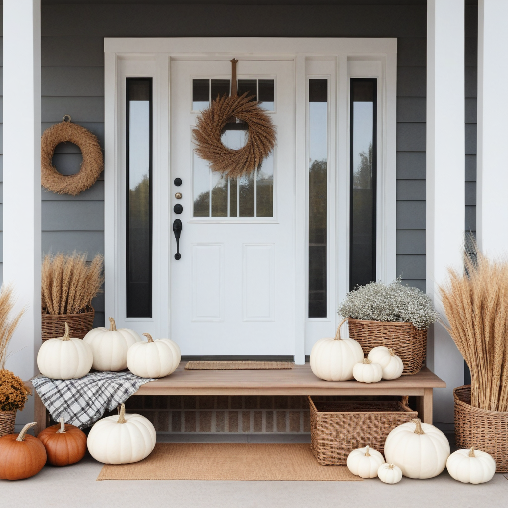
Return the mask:
[[[462,270],[464,242],[464,0],[427,3],[427,294],[442,312],[437,284]],[[464,384],[462,356],[438,324],[427,363],[447,383],[434,390],[434,421],[453,424],[454,388]]]

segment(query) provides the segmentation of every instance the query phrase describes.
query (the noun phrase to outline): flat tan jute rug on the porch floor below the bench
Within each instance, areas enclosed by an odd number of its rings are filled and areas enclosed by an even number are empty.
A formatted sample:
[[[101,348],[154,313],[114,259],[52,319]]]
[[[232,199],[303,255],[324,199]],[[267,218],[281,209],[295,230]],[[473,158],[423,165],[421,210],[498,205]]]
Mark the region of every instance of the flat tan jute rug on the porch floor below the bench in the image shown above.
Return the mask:
[[[104,465],[97,480],[363,481],[322,466],[309,443],[156,443],[140,462]]]

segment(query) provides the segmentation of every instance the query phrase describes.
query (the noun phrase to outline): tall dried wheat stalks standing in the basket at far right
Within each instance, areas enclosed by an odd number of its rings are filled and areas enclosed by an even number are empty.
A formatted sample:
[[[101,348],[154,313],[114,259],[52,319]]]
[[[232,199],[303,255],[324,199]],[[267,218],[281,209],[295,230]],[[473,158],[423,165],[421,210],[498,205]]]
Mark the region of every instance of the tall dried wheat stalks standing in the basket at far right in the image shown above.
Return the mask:
[[[448,332],[471,371],[471,405],[508,410],[508,261],[465,256],[439,286]]]

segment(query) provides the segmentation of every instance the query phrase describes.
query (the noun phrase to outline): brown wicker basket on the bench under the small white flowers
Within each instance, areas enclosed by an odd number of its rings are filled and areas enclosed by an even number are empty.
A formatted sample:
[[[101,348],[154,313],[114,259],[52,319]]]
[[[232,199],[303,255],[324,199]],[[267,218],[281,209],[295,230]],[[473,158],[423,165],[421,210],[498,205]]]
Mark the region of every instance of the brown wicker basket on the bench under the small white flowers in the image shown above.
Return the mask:
[[[392,348],[404,364],[404,374],[420,372],[427,354],[427,329],[418,330],[411,323],[347,320],[349,336],[362,346],[363,352],[376,346]]]

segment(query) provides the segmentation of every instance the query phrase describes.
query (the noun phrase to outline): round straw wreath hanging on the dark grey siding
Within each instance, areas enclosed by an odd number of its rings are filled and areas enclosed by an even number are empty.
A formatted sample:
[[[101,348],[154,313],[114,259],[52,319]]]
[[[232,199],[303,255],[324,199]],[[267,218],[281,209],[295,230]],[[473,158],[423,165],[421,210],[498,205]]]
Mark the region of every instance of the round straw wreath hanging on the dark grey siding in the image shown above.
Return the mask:
[[[83,162],[74,175],[62,175],[51,164],[53,153],[59,143],[70,141],[79,147]],[[65,115],[61,123],[55,123],[44,131],[41,138],[41,183],[56,194],[77,196],[91,187],[104,169],[99,140],[90,131],[71,122]]]

